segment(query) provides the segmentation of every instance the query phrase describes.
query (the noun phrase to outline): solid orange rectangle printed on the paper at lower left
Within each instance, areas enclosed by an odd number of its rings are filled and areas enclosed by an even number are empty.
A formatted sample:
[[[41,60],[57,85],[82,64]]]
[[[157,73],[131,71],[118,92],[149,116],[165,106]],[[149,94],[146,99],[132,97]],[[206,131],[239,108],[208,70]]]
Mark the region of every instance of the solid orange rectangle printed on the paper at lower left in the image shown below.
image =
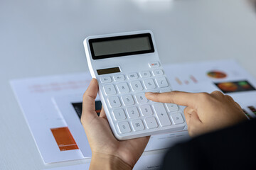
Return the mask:
[[[52,128],[50,130],[53,133],[53,137],[55,138],[60,151],[79,149],[68,127]]]

